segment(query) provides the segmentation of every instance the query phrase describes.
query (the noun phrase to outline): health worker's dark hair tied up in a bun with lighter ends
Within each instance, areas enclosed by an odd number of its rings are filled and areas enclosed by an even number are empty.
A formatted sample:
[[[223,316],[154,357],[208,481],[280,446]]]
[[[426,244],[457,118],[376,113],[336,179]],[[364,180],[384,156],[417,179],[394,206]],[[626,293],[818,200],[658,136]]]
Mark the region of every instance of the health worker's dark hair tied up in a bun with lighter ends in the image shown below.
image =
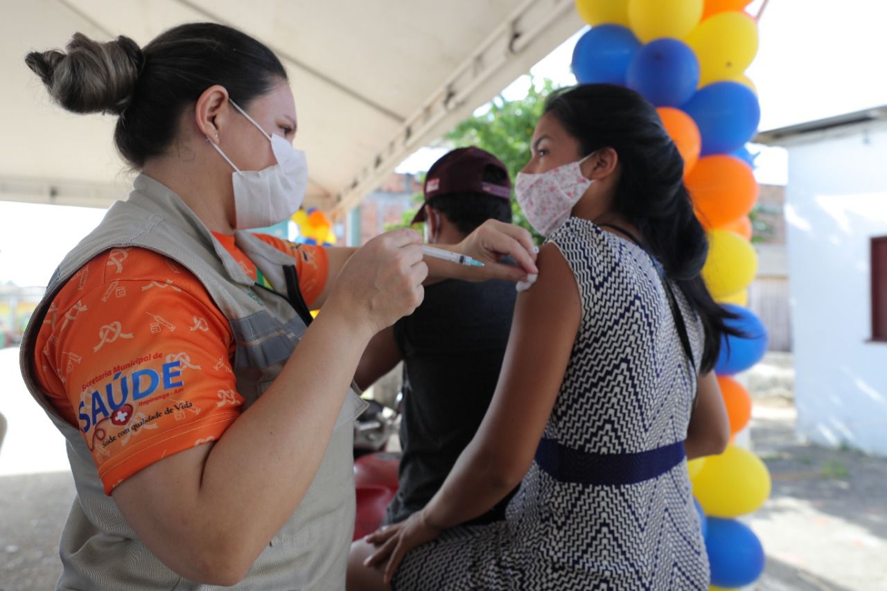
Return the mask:
[[[185,106],[213,84],[246,108],[287,80],[273,51],[216,23],[170,28],[144,49],[126,36],[99,43],[76,33],[66,51],[34,51],[25,63],[68,111],[119,115],[114,144],[135,169],[167,151]]]

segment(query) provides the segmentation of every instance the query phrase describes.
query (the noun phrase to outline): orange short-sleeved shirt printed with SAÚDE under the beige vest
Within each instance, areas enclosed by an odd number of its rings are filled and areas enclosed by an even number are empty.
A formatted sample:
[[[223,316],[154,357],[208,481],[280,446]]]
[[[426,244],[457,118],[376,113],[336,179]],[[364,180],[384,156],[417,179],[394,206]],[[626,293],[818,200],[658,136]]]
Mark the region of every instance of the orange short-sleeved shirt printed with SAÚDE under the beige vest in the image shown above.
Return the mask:
[[[258,236],[295,257],[302,296],[314,302],[326,251]],[[264,282],[233,236],[216,238]],[[221,437],[243,403],[233,351],[228,321],[191,272],[144,248],[112,248],[53,300],[35,369],[52,405],[81,430],[110,494],[153,462]]]

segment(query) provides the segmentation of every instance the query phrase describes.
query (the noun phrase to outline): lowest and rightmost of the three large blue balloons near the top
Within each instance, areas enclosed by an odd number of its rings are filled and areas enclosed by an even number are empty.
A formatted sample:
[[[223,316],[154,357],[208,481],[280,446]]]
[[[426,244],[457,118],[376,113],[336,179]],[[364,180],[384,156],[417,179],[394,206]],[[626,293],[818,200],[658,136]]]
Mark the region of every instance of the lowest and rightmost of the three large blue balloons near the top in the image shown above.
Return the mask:
[[[755,136],[761,107],[745,84],[718,82],[703,86],[680,107],[693,117],[703,138],[700,156],[730,154]]]

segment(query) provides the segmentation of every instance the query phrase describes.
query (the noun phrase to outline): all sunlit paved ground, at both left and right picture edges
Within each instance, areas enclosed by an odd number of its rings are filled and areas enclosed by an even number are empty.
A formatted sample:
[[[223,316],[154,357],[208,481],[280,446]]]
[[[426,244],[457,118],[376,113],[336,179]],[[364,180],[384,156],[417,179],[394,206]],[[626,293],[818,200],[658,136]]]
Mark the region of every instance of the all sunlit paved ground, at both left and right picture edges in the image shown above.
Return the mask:
[[[0,412],[10,420],[0,450],[0,591],[51,589],[74,485],[63,440],[27,398],[16,355],[0,350]],[[784,365],[762,366],[749,381],[758,394],[750,440],[773,477],[770,499],[747,520],[767,555],[751,588],[887,589],[887,458],[798,441]]]

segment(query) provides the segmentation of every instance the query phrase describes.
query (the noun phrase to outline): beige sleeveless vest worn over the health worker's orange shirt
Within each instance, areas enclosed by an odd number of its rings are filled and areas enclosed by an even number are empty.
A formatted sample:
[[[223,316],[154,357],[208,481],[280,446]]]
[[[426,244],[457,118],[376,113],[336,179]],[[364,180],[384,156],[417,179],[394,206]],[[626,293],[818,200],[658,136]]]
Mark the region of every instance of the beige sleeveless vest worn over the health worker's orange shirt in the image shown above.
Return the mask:
[[[287,284],[284,267],[294,259],[248,232],[237,245],[276,288]],[[114,500],[106,496],[89,448],[74,425],[46,400],[35,380],[34,348],[46,311],[67,280],[108,248],[148,248],[190,270],[228,319],[236,340],[234,373],[244,408],[271,385],[305,331],[287,298],[255,288],[234,258],[184,202],[145,175],[127,201],[65,257],[53,274],[21,347],[27,387],[67,439],[77,497],[59,543],[64,571],[60,589],[343,589],[354,529],[352,462],[354,419],[365,403],[353,391],[345,398],[324,460],[299,508],[235,587],[198,585],[182,579],[138,540]],[[271,445],[271,442],[269,442]],[[292,461],[298,461],[294,457]],[[237,477],[232,475],[232,477]],[[244,510],[248,511],[248,500]]]

